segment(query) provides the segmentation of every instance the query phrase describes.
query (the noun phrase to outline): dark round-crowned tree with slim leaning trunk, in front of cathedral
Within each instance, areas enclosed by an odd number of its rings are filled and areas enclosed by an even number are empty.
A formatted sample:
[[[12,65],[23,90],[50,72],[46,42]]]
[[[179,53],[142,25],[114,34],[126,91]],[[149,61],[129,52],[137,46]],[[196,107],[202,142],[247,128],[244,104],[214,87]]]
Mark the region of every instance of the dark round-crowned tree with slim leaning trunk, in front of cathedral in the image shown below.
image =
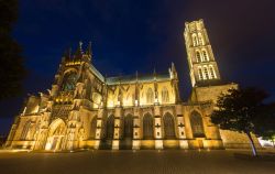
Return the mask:
[[[255,133],[255,121],[265,116],[263,100],[268,95],[256,88],[229,89],[228,94],[218,97],[217,108],[211,121],[221,129],[245,133],[251,142],[253,155],[257,155],[252,133]]]

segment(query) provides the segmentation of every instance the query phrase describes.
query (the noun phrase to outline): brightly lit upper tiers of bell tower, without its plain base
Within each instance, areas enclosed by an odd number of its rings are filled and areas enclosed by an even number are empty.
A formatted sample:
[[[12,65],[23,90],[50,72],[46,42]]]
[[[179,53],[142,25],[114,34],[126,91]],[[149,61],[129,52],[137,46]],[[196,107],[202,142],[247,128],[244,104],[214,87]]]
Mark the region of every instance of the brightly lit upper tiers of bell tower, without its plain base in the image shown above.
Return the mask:
[[[186,22],[184,37],[193,87],[217,84],[220,73],[204,21]]]

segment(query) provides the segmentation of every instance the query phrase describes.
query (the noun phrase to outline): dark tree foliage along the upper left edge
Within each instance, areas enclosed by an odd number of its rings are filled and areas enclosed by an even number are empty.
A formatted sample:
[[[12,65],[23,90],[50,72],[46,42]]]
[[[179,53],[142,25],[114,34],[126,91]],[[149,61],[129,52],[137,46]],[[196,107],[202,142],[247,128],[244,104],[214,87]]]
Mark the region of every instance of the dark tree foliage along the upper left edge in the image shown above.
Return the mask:
[[[25,76],[21,46],[12,39],[18,0],[0,0],[0,100],[18,96]]]

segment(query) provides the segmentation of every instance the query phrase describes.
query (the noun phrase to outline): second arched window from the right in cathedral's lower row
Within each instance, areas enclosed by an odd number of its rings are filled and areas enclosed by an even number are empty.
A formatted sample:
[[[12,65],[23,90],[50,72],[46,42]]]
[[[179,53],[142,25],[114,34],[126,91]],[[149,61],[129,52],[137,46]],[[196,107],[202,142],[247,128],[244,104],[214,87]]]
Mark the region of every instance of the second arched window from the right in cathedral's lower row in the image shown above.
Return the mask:
[[[170,113],[165,113],[163,117],[164,137],[165,139],[175,139],[175,121]]]

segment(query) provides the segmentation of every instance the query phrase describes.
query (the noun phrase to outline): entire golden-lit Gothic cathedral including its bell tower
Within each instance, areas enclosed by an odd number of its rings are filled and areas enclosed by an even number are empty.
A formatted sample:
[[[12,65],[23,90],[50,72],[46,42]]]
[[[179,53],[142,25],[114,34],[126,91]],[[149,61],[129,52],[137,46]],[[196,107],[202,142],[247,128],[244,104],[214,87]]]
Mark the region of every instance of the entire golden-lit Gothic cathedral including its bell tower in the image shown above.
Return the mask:
[[[165,74],[105,77],[92,64],[91,45],[84,51],[79,43],[75,54],[62,57],[51,90],[25,100],[6,148],[249,148],[245,134],[220,130],[210,121],[217,97],[238,84],[221,80],[204,21],[186,22],[183,37],[193,86],[187,101],[180,100],[173,63]]]

